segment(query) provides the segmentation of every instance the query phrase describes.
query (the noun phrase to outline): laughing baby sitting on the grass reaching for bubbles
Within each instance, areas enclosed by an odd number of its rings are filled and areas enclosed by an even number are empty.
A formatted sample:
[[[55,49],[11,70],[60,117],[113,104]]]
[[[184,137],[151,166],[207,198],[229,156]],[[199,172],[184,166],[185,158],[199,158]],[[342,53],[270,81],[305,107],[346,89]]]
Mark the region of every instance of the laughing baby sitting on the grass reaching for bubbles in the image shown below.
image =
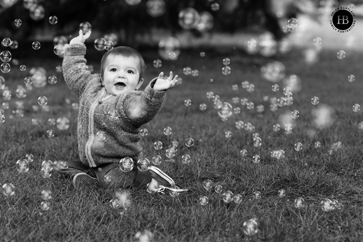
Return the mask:
[[[136,169],[143,158],[139,144],[139,128],[159,112],[166,91],[175,86],[178,75],[154,78],[144,91],[142,85],[145,62],[129,47],[115,47],[101,60],[101,74],[87,70],[85,40],[91,34],[73,38],[65,45],[63,74],[67,85],[79,98],[79,159],[66,161],[65,175],[73,177],[73,185],[100,184],[103,187],[145,189],[149,182],[174,186],[174,181],[159,168],[150,166],[146,172]],[[119,161],[131,157],[130,172],[119,169]]]

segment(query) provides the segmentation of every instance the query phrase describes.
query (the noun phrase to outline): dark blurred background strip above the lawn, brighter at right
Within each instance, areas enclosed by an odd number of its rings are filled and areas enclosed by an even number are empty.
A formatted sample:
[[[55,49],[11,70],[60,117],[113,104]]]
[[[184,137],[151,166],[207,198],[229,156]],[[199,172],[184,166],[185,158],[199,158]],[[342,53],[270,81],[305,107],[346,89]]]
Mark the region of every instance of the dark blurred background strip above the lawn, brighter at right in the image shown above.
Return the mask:
[[[357,24],[349,34],[335,33],[330,14],[348,5]],[[361,0],[0,0],[0,16],[1,40],[54,41],[54,46],[69,42],[85,22],[92,30],[88,42],[105,38],[136,49],[156,47],[166,37],[176,40],[164,45],[233,46],[267,57],[311,45],[317,36],[324,48],[362,49],[363,44]],[[295,28],[288,25],[291,18],[298,20]],[[250,39],[256,43],[248,45]]]

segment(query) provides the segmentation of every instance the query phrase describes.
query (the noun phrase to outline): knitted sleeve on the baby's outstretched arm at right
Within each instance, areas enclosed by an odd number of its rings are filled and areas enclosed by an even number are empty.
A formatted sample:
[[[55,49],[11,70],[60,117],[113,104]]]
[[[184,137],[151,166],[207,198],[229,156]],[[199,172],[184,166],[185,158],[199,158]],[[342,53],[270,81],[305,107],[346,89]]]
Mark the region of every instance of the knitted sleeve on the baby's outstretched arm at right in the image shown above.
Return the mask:
[[[148,123],[160,111],[164,102],[166,91],[156,91],[153,89],[158,78],[152,79],[141,95],[130,95],[125,98],[123,110],[126,117],[136,127]]]

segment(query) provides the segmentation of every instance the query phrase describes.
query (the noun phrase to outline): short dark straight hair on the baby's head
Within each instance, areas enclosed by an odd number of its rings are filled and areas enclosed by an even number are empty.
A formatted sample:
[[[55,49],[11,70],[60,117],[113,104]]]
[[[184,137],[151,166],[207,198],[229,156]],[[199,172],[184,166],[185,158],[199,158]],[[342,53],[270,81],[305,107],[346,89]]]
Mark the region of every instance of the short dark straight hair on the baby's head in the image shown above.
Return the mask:
[[[137,52],[136,50],[127,47],[127,46],[117,46],[113,48],[112,50],[107,51],[103,56],[101,60],[101,78],[103,79],[103,74],[105,73],[105,66],[106,66],[106,60],[109,55],[113,56],[123,56],[123,57],[134,57],[135,59],[139,59],[139,80],[143,78],[146,65],[145,61],[142,58],[141,54]]]

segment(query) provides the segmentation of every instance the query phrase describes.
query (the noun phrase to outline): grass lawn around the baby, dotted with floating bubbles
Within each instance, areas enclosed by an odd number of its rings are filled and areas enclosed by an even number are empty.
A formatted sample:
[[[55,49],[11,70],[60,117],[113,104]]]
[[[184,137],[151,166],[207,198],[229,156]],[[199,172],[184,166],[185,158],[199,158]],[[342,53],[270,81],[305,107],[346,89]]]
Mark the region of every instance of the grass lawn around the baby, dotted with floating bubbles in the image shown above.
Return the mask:
[[[61,59],[21,58],[19,65],[27,67],[21,72],[19,67],[6,74],[7,86],[13,97],[10,108],[5,110],[5,123],[0,124],[0,183],[13,183],[15,195],[0,196],[0,238],[2,241],[138,241],[135,234],[150,231],[152,241],[362,241],[362,138],[358,130],[362,111],[354,113],[352,105],[362,103],[360,53],[347,50],[347,57],[338,60],[335,51],[323,50],[320,61],[313,66],[303,62],[301,50],[294,49],[286,56],[274,58],[247,56],[238,50],[204,50],[206,57],[199,56],[199,50],[184,51],[176,62],[163,61],[160,69],[152,67],[152,61],[159,58],[156,52],[145,51],[142,55],[148,65],[145,82],[172,70],[183,78],[181,85],[169,90],[159,114],[142,128],[148,135],[141,137],[144,157],[155,155],[166,159],[165,148],[156,151],[155,141],[162,141],[164,147],[172,140],[179,142],[175,163],[163,161],[159,167],[170,175],[180,188],[188,192],[178,197],[166,194],[149,194],[146,191],[131,190],[131,205],[126,210],[110,206],[110,200],[117,190],[99,187],[74,190],[69,179],[52,172],[49,179],[40,176],[41,162],[50,159],[69,160],[78,157],[77,110],[65,103],[65,98],[78,102],[55,67]],[[221,73],[222,60],[231,59],[232,73]],[[13,57],[14,58],[14,57]],[[99,67],[101,54],[87,50],[87,64],[95,71]],[[269,110],[269,103],[262,97],[283,96],[283,86],[274,93],[272,83],[262,80],[260,67],[267,62],[278,60],[286,66],[286,74],[296,74],[302,80],[302,90],[293,94],[294,104]],[[49,75],[56,75],[58,82],[49,83],[41,89],[28,91],[24,117],[14,115],[17,85],[24,85],[23,79],[31,67],[42,66]],[[182,69],[190,66],[199,70],[199,76],[182,74]],[[99,73],[99,72],[98,72]],[[355,82],[348,82],[349,74],[355,75]],[[214,82],[209,82],[213,78]],[[248,80],[255,85],[255,91],[248,93],[240,83]],[[232,91],[231,86],[239,89]],[[254,110],[247,110],[240,103],[241,114],[233,114],[222,122],[213,108],[212,100],[206,98],[207,91],[213,91],[221,101],[232,104],[232,97],[248,98],[255,103]],[[37,105],[37,97],[48,97],[49,112],[32,111]],[[335,110],[335,122],[329,128],[317,130],[311,125],[311,110],[315,108],[310,99],[317,96],[321,104]],[[192,105],[184,106],[185,99]],[[207,110],[200,111],[199,104],[206,103]],[[264,104],[261,115],[256,111],[258,104]],[[319,106],[318,104],[318,106]],[[272,130],[278,123],[279,115],[286,111],[299,110],[300,117],[290,135],[281,129]],[[70,127],[60,131],[47,124],[48,118],[68,116]],[[32,125],[31,119],[40,119],[39,125]],[[253,146],[252,133],[237,130],[237,120],[250,122],[262,139],[262,146]],[[163,134],[165,127],[172,128],[172,134]],[[46,131],[54,129],[55,136],[48,138]],[[231,138],[224,133],[232,132]],[[313,132],[314,131],[314,132]],[[309,135],[313,132],[314,135]],[[184,141],[194,139],[194,145],[187,147]],[[314,142],[322,146],[314,148]],[[340,141],[343,147],[332,155],[327,155],[330,145]],[[301,142],[302,151],[295,151],[294,144]],[[242,158],[240,150],[246,149],[248,157]],[[285,159],[270,157],[270,152],[284,149]],[[26,173],[18,173],[15,163],[24,159],[27,153],[34,155],[34,161]],[[191,163],[181,163],[181,156],[189,154]],[[253,155],[260,155],[258,164],[252,162]],[[210,179],[221,184],[225,190],[242,195],[242,202],[225,203],[220,194],[205,190],[203,181]],[[42,190],[50,189],[52,199],[50,209],[41,209],[44,201]],[[286,196],[279,197],[278,190],[285,189]],[[255,199],[253,193],[261,192]],[[199,204],[199,197],[207,196],[209,204]],[[302,197],[306,206],[295,208],[294,201]],[[338,200],[342,209],[324,212],[323,198]],[[258,233],[252,237],[244,234],[242,225],[256,217]],[[141,241],[141,240],[140,240]]]

